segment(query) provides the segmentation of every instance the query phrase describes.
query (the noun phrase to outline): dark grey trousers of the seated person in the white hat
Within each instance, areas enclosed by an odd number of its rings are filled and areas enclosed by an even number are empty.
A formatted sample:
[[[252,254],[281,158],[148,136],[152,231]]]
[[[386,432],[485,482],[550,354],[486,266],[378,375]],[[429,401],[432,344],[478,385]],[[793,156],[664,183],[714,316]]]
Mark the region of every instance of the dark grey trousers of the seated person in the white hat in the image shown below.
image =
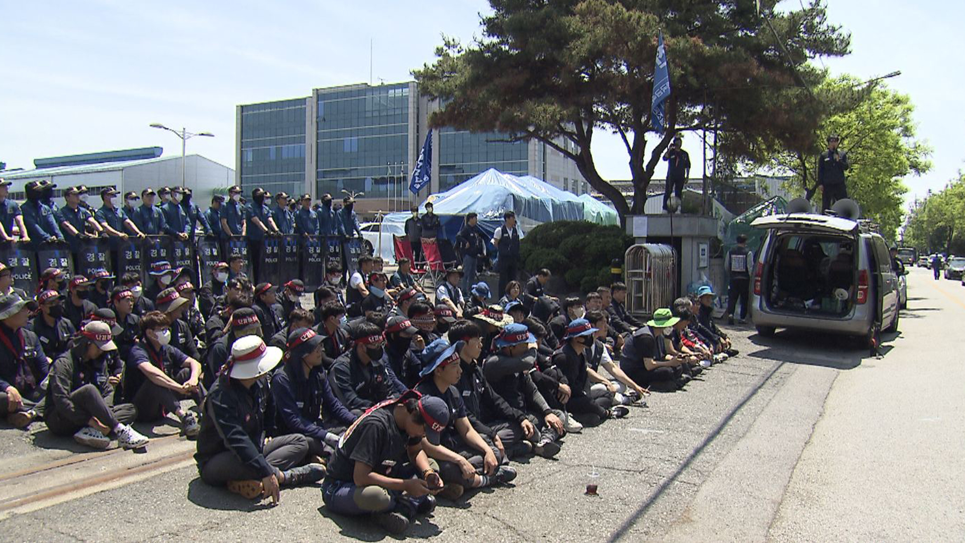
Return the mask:
[[[272,438],[264,444],[262,454],[275,474],[290,470],[298,466],[308,455],[308,439],[301,434],[289,434]],[[228,481],[243,481],[261,479],[262,476],[245,466],[237,455],[230,450],[219,452],[208,460],[204,466],[198,467],[201,480],[211,486],[225,486]]]

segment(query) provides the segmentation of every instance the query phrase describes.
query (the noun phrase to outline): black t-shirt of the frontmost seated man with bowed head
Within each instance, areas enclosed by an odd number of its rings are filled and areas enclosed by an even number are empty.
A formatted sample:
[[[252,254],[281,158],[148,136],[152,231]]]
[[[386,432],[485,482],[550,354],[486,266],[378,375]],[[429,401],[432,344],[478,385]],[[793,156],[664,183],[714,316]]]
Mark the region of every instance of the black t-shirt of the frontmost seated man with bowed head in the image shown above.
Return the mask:
[[[328,477],[339,481],[354,480],[355,463],[372,466],[372,471],[396,476],[402,464],[408,462],[406,446],[420,443],[410,438],[396,424],[394,404],[372,410],[359,417],[345,431],[339,448],[328,463]]]

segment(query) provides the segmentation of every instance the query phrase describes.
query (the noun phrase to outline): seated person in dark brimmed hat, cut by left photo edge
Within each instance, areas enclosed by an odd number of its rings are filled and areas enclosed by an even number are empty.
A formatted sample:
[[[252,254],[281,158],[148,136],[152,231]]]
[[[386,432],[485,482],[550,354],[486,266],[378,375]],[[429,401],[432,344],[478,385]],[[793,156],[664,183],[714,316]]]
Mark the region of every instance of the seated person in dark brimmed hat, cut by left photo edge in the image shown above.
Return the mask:
[[[37,334],[26,329],[36,303],[0,297],[0,416],[14,428],[26,428],[43,414],[50,360]]]

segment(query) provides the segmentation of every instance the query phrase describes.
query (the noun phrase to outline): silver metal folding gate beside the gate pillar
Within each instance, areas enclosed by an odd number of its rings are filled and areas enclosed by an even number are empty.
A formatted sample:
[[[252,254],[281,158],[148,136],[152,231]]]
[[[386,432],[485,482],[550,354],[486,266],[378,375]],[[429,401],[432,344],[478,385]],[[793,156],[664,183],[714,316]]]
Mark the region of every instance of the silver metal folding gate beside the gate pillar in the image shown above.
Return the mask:
[[[626,310],[649,318],[676,300],[676,251],[670,245],[638,243],[623,255],[626,275]]]

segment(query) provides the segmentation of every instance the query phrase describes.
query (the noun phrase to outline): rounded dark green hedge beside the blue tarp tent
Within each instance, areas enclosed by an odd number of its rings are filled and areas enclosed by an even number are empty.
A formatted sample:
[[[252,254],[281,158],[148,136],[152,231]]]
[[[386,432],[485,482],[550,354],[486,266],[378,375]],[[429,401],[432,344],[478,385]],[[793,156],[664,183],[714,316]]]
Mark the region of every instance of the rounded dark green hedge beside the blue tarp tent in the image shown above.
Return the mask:
[[[623,262],[633,243],[619,226],[583,220],[545,222],[526,233],[520,243],[524,269],[545,268],[561,277],[570,291],[590,292],[611,282],[610,265]]]

